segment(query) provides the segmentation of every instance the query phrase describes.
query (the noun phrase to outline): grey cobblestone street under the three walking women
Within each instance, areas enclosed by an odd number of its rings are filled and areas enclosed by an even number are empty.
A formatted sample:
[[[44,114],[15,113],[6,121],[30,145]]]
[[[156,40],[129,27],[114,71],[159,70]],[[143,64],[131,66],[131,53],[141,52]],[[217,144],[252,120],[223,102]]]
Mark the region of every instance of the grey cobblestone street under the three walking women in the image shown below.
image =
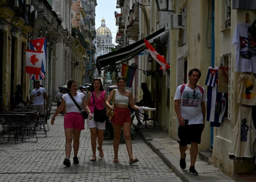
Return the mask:
[[[55,107],[55,106],[54,106]],[[55,108],[52,109],[55,112]],[[51,114],[52,115],[52,114]],[[51,118],[51,117],[50,117]],[[49,121],[48,121],[49,123]],[[39,131],[42,132],[42,131]],[[128,153],[124,143],[119,146],[119,163],[113,163],[112,140],[103,143],[104,158],[89,161],[92,155],[90,132],[86,128],[81,133],[79,164],[63,165],[65,158],[65,135],[63,116],[56,117],[46,138],[37,143],[15,145],[14,141],[4,141],[0,145],[0,181],[181,181],[174,172],[148,147],[137,133],[132,135],[133,156],[139,162],[129,165]],[[43,136],[39,134],[38,136]],[[73,156],[73,149],[71,152]],[[161,178],[165,177],[165,178]],[[159,179],[160,178],[160,179]]]

